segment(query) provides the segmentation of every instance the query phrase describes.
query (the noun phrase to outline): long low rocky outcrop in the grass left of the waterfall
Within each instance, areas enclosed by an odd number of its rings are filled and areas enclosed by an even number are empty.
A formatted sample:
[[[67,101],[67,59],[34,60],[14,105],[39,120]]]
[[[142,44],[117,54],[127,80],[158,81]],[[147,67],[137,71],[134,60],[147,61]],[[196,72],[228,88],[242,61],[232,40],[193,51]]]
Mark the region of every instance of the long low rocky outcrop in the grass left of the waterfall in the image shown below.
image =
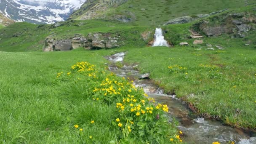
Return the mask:
[[[111,33],[90,33],[87,37],[76,34],[74,37],[65,40],[56,40],[53,37],[52,35],[45,39],[43,51],[70,51],[76,48],[108,49],[122,45],[119,41],[120,36],[113,36]]]

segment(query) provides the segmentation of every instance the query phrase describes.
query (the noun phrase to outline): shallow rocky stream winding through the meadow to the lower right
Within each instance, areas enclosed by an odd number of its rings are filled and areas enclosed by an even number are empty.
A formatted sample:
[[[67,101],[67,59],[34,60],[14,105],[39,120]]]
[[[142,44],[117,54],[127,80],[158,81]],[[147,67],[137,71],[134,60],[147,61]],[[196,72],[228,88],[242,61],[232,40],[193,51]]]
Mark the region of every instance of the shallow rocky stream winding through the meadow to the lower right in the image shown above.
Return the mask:
[[[235,141],[236,144],[256,144],[256,133],[245,132],[238,128],[223,125],[221,122],[198,117],[175,95],[163,94],[163,89],[149,79],[139,80],[141,75],[136,70],[138,65],[124,65],[121,69],[117,68],[115,62],[122,62],[124,56],[125,53],[107,56],[106,59],[113,62],[109,65],[109,70],[120,77],[129,77],[134,81],[133,84],[136,87],[143,88],[145,93],[157,102],[167,104],[170,122],[173,118],[179,121],[178,128],[184,132],[183,140],[185,142],[188,144],[212,144],[214,141],[219,141],[221,144],[227,144],[229,141]]]

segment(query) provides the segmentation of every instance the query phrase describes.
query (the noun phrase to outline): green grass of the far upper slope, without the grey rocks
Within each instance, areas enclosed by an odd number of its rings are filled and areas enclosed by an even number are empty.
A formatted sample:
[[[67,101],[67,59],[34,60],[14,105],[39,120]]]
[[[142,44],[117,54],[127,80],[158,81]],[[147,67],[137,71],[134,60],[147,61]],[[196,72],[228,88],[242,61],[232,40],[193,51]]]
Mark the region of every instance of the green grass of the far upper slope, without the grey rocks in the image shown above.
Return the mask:
[[[247,1],[248,5],[256,4],[254,0]],[[129,8],[130,5],[132,5],[131,8]],[[243,6],[245,6],[243,0],[204,0],[203,2],[200,0],[128,0],[127,3],[117,8],[110,8],[106,15],[109,17],[115,14],[126,16],[129,11],[136,16],[136,24],[158,26],[181,16],[194,16]]]

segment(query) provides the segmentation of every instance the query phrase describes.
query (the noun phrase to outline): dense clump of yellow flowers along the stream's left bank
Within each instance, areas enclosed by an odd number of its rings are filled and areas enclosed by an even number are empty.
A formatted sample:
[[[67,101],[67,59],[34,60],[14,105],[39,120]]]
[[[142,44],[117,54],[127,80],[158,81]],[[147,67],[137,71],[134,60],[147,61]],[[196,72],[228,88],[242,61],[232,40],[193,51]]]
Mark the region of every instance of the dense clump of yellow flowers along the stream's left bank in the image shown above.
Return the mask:
[[[94,88],[91,89],[93,100],[108,104],[113,104],[113,101],[116,101],[117,115],[112,121],[112,123],[115,123],[116,128],[122,129],[122,131],[129,134],[132,131],[141,131],[141,127],[136,125],[138,123],[139,125],[142,122],[142,125],[144,123],[155,125],[158,120],[165,121],[163,115],[164,112],[168,112],[168,106],[155,104],[155,99],[148,98],[148,95],[143,90],[137,89],[132,81],[129,82],[124,77],[117,77],[114,73],[98,72],[96,66],[88,62],[79,62],[73,65],[72,69],[85,77],[96,78],[89,79],[95,82]],[[181,69],[186,68],[181,67]],[[75,72],[72,72],[72,75],[73,73]],[[97,79],[101,79],[101,82]],[[92,120],[91,124],[93,123],[94,121]],[[146,130],[145,134],[147,134]]]

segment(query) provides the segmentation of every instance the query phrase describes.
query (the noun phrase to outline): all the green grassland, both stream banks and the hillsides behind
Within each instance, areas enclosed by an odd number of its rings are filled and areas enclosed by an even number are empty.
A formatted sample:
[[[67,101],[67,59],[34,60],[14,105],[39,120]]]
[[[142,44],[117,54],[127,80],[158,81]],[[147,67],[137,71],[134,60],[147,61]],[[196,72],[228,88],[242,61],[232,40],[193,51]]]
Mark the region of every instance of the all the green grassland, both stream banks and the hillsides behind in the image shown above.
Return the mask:
[[[0,26],[0,143],[180,143],[181,132],[165,115],[167,106],[155,104],[130,80],[108,71],[104,56],[124,51],[125,63],[139,64],[141,73],[150,73],[165,93],[175,93],[198,115],[256,131],[255,31],[244,38],[204,37],[203,44],[193,45],[188,30],[195,22],[174,24],[162,27],[174,47],[147,46],[155,27],[169,19],[242,7],[245,1],[129,0],[110,8],[107,16],[122,14],[130,5],[134,23],[72,20],[58,27],[25,22]],[[119,34],[123,46],[42,52],[48,36],[60,40],[91,32]],[[143,39],[145,33],[149,35]]]

